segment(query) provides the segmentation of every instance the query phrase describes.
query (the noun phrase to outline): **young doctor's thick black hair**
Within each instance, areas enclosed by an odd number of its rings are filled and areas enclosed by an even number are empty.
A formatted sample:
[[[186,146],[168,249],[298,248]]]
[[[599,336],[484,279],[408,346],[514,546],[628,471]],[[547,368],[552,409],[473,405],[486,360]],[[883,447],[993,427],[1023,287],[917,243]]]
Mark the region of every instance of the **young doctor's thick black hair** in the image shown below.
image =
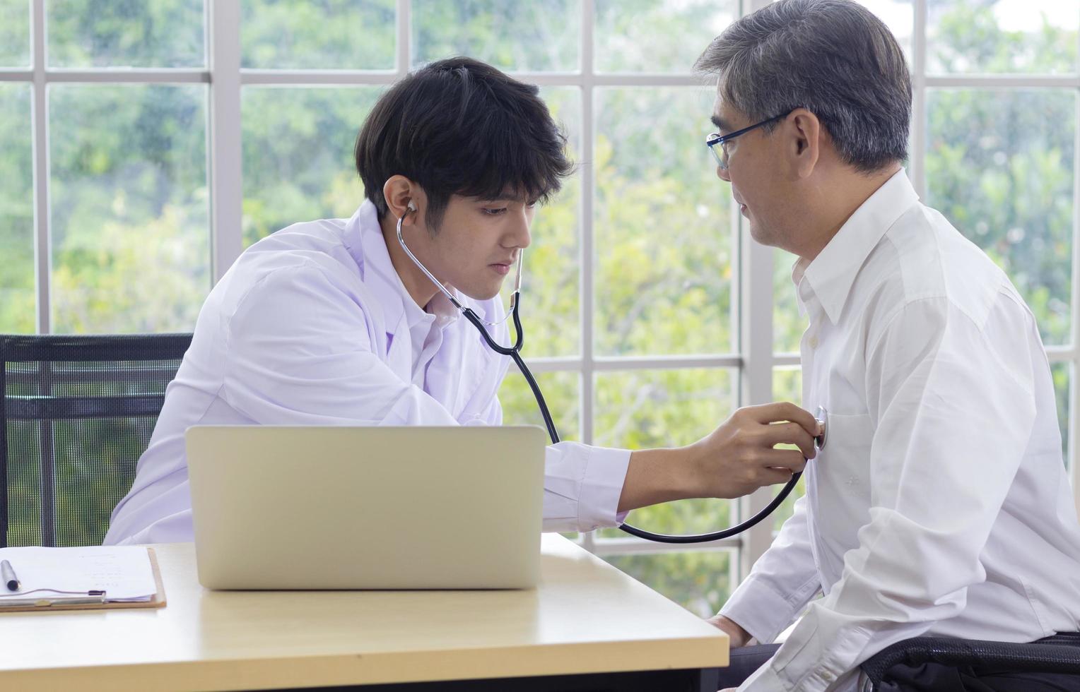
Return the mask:
[[[379,218],[389,211],[382,186],[394,175],[427,193],[434,232],[451,194],[482,200],[508,192],[546,202],[573,165],[566,134],[539,89],[468,57],[431,63],[375,104],[356,136],[356,172]]]

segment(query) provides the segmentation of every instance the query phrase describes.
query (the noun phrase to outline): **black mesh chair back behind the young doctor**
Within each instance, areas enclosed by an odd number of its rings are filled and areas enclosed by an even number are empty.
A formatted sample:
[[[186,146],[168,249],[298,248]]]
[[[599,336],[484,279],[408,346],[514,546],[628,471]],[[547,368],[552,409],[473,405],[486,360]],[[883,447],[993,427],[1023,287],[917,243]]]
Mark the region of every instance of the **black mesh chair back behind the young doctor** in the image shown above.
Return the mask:
[[[0,547],[102,542],[190,344],[0,335]]]

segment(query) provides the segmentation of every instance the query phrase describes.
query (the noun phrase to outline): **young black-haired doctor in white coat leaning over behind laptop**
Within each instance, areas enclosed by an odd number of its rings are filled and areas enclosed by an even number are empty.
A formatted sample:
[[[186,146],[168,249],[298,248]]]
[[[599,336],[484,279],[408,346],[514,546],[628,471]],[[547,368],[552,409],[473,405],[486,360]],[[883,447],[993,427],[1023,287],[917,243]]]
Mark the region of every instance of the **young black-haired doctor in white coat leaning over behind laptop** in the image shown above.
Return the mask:
[[[536,207],[571,169],[537,93],[453,58],[379,99],[356,140],[367,201],[350,219],[264,239],[214,287],[106,543],[192,540],[190,425],[501,423],[496,394],[509,358],[408,259],[396,223],[404,217],[406,243],[438,280],[498,324],[499,288],[529,244]],[[491,329],[508,341],[505,325]],[[772,404],[677,449],[554,445],[544,530],[591,531],[635,507],[784,483],[813,456],[816,428],[807,411]],[[773,449],[784,443],[799,449]]]

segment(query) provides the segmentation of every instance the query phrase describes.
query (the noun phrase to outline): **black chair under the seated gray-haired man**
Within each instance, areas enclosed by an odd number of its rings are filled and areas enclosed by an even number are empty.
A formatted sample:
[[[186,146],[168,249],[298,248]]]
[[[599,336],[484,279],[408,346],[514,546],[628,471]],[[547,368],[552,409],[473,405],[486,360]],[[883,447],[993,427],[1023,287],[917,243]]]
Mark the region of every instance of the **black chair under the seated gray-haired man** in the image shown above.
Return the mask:
[[[890,673],[894,666],[916,668],[935,663],[974,670],[1075,675],[1075,689],[1080,690],[1080,634],[1058,634],[1031,643],[916,637],[882,649],[861,667],[868,678],[868,690],[893,692],[910,689]]]

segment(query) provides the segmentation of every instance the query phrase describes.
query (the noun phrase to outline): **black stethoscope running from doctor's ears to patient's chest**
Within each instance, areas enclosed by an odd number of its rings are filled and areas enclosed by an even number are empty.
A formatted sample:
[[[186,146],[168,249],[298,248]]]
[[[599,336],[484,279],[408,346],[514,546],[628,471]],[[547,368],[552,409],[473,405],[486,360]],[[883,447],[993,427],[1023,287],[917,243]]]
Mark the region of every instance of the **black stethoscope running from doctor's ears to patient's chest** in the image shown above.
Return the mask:
[[[416,206],[411,201],[409,201],[408,208],[405,214],[408,215],[410,212],[416,212]],[[528,366],[525,365],[525,361],[522,359],[522,344],[525,341],[525,333],[522,330],[522,320],[518,313],[522,307],[522,261],[525,257],[524,248],[517,252],[517,270],[514,277],[514,293],[510,297],[510,314],[508,314],[502,321],[505,322],[505,320],[513,317],[516,338],[514,339],[513,345],[504,347],[492,339],[491,335],[487,330],[488,326],[498,326],[502,322],[487,322],[485,320],[481,320],[471,308],[462,306],[457,297],[447,290],[446,287],[443,286],[443,283],[435,279],[435,276],[428,271],[428,268],[424,267],[419,259],[417,259],[416,255],[413,254],[413,250],[408,248],[405,244],[405,236],[402,235],[402,222],[404,220],[405,216],[397,219],[397,242],[401,244],[402,249],[404,249],[405,254],[409,256],[409,259],[411,259],[416,266],[420,268],[420,271],[422,271],[429,280],[431,280],[431,283],[435,284],[435,287],[437,287],[438,290],[446,296],[450,303],[458,309],[464,318],[476,327],[476,330],[480,331],[482,337],[484,337],[484,341],[487,342],[487,345],[490,347],[492,351],[502,355],[509,355],[513,358],[517,369],[519,369],[522,375],[525,376],[525,381],[529,383],[529,389],[532,390],[532,396],[536,397],[537,406],[540,408],[540,415],[543,416],[543,422],[548,428],[548,435],[551,437],[551,443],[553,445],[558,444],[558,431],[555,430],[555,422],[551,418],[551,411],[548,410],[548,403],[543,398],[543,393],[540,391],[540,385],[537,384],[536,378],[532,377],[532,371],[529,370]],[[814,437],[813,443],[814,450],[820,452],[825,448],[825,439],[828,433],[828,411],[825,410],[824,407],[819,406],[816,412],[814,413],[814,418],[818,419],[818,422],[821,423],[822,426],[822,434]],[[772,514],[772,512],[787,499],[787,496],[792,493],[792,490],[795,489],[795,486],[798,484],[801,476],[802,472],[792,474],[792,478],[787,481],[787,485],[784,486],[780,493],[777,494],[777,497],[772,499],[772,502],[766,505],[764,510],[742,524],[738,524],[731,528],[720,531],[713,531],[712,533],[692,533],[687,535],[670,535],[667,533],[653,533],[651,531],[646,531],[645,529],[639,529],[636,526],[631,526],[629,524],[622,524],[619,528],[632,535],[647,539],[649,541],[656,541],[658,543],[706,543],[708,541],[719,541],[720,539],[731,538],[732,535],[742,533],[743,531],[757,525],[767,516]]]

